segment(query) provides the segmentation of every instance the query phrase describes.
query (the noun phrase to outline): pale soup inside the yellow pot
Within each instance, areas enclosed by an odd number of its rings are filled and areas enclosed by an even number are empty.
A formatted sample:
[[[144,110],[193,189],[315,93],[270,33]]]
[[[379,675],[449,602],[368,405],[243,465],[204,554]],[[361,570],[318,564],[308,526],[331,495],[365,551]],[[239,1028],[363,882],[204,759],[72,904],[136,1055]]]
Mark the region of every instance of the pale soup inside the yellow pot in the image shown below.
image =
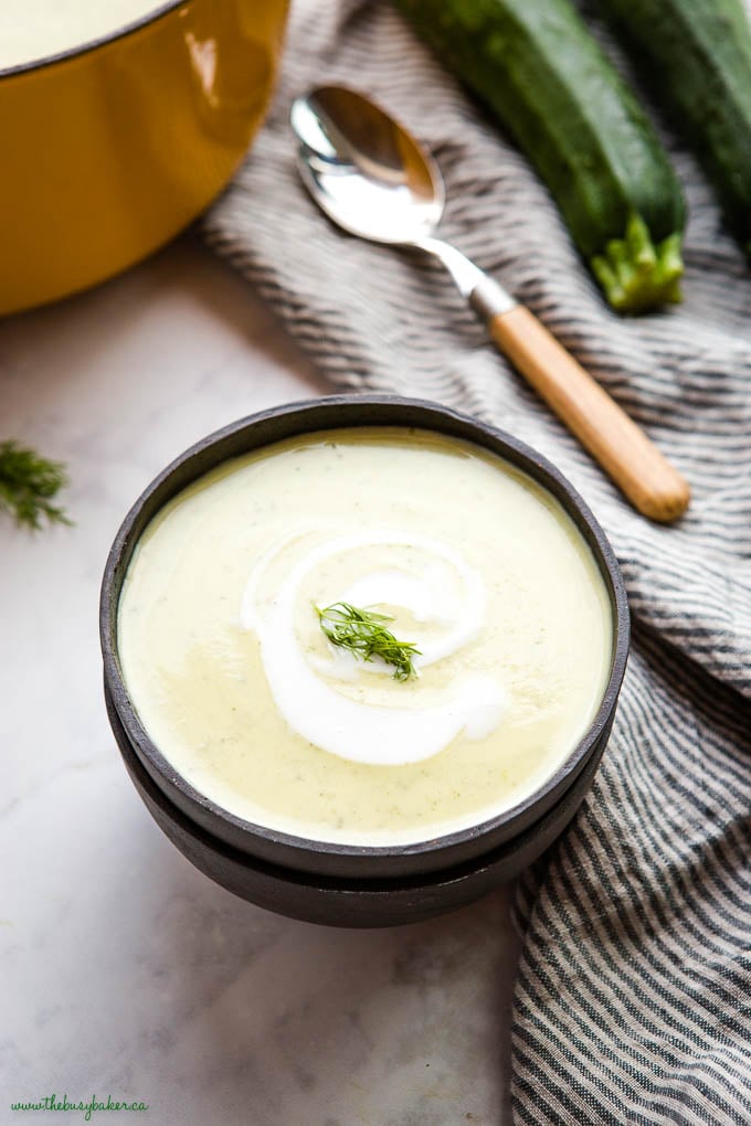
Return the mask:
[[[2,0],[0,70],[62,54],[127,27],[166,0]]]

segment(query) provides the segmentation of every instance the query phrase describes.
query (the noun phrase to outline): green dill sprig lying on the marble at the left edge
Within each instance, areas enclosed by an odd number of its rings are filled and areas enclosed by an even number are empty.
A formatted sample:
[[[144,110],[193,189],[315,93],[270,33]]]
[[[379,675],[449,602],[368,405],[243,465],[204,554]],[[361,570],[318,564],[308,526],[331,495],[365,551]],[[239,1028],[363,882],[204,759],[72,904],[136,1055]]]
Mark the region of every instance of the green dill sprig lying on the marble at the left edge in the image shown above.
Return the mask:
[[[19,527],[37,530],[48,524],[70,524],[64,510],[53,504],[68,474],[60,462],[50,462],[17,441],[0,441],[0,510]]]

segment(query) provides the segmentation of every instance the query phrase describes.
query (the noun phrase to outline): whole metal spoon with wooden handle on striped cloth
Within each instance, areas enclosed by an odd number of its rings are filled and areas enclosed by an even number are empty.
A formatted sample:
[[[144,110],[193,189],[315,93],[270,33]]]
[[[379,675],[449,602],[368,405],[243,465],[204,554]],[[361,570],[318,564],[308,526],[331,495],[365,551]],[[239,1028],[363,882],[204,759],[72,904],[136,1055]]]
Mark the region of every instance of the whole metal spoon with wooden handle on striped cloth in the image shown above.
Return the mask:
[[[328,86],[295,101],[292,127],[303,182],[329,218],[363,239],[438,258],[499,349],[632,503],[653,520],[674,520],[686,511],[687,482],[644,431],[528,309],[435,238],[444,182],[430,154],[402,125],[354,90]]]

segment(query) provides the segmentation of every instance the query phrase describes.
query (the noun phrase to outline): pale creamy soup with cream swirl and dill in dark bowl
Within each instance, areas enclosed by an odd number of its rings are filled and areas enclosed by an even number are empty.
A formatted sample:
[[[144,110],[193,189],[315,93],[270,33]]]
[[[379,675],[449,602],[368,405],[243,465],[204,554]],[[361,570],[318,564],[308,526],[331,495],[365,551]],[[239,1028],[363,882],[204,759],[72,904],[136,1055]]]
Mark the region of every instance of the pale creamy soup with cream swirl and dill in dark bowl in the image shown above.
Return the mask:
[[[202,477],[146,528],[118,615],[126,687],[184,778],[249,821],[359,844],[533,793],[597,712],[611,643],[557,501],[403,428],[312,434]]]

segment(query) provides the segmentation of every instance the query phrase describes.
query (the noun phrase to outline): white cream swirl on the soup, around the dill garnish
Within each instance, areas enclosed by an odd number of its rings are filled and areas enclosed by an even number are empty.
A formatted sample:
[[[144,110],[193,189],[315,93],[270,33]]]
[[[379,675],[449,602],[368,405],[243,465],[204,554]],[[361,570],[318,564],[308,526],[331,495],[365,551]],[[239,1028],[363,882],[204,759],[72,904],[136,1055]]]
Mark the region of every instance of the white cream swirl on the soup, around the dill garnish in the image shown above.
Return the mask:
[[[364,698],[356,699],[330,682],[355,680],[359,670],[352,664],[351,654],[333,652],[329,660],[320,655],[311,660],[295,631],[295,601],[304,580],[316,566],[340,554],[378,547],[393,556],[395,548],[406,548],[410,563],[402,563],[400,569],[392,565],[392,570],[367,570],[366,564],[359,578],[345,590],[342,600],[396,610],[408,608],[415,622],[442,627],[435,636],[429,635],[427,642],[420,642],[422,647],[414,659],[418,670],[453,656],[482,629],[486,602],[481,577],[457,552],[424,536],[400,530],[329,534],[306,551],[266,607],[261,606],[258,588],[265,569],[290,539],[298,538],[302,537],[293,534],[283,540],[253,570],[241,614],[242,624],[259,638],[269,688],[294,731],[322,750],[352,762],[394,766],[420,762],[437,754],[459,732],[480,739],[497,727],[504,699],[498,677],[458,673],[446,686],[440,700],[426,703],[420,694],[412,694],[408,706],[372,704],[367,699],[367,685],[359,689]],[[325,602],[327,598],[320,601]],[[392,676],[383,662],[366,664],[364,671]]]

